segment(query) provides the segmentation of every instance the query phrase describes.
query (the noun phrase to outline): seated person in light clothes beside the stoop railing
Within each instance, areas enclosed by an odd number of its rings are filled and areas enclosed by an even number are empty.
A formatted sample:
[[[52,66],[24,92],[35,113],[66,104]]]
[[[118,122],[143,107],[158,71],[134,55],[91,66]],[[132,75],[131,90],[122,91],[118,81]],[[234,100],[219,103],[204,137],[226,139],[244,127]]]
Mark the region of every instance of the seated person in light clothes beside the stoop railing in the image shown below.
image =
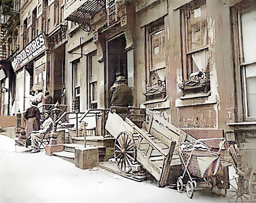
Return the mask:
[[[45,138],[45,136],[51,132],[51,127],[53,125],[53,119],[51,116],[49,116],[48,112],[44,113],[44,122],[41,126],[41,129],[38,131],[32,131],[30,136],[31,136],[31,147],[34,148],[35,151],[39,151],[39,143],[38,141],[42,140]]]

